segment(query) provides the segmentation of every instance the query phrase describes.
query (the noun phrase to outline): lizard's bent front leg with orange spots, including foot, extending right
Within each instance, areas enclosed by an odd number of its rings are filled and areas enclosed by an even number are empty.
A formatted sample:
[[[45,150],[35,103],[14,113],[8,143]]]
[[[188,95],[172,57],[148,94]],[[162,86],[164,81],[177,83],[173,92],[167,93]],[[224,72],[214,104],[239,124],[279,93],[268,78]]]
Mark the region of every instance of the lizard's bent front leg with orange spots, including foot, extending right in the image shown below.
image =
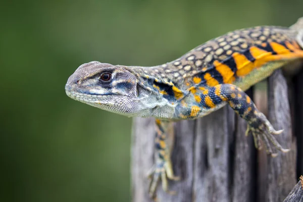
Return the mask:
[[[280,134],[283,130],[276,131],[266,116],[261,113],[250,97],[239,87],[232,84],[219,84],[214,87],[191,87],[187,102],[180,105],[178,111],[180,118],[193,119],[204,116],[217,110],[220,106],[228,104],[237,114],[247,122],[246,135],[254,136],[256,148],[261,148],[261,140],[266,146],[266,151],[272,157],[277,154],[274,149],[283,153],[284,149],[273,135]],[[272,147],[272,145],[274,147]]]

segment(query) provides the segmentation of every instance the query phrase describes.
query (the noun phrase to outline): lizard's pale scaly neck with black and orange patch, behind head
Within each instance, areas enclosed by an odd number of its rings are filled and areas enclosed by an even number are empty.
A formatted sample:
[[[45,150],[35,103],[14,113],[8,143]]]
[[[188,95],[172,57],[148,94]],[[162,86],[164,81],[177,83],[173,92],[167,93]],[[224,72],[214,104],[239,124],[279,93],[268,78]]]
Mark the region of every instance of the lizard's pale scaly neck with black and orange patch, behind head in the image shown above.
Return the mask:
[[[171,64],[153,67],[129,66],[125,67],[133,73],[137,79],[138,94],[141,97],[145,109],[151,109],[154,117],[173,118],[175,107],[187,94],[182,90],[183,78],[175,77],[170,70]],[[167,68],[168,67],[168,68]],[[165,114],[166,117],[163,117]]]

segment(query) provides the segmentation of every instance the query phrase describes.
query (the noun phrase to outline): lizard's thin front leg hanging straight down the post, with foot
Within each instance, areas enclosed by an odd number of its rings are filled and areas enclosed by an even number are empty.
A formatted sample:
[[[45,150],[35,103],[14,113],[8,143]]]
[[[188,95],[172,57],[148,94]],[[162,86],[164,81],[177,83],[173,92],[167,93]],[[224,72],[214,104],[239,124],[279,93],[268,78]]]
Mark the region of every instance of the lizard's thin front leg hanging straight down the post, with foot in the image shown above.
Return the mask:
[[[169,193],[174,193],[173,191],[169,191],[168,189],[168,181],[170,180],[179,180],[179,177],[174,175],[172,162],[170,158],[170,154],[172,151],[174,138],[169,138],[168,133],[172,133],[170,130],[169,121],[161,121],[160,119],[156,119],[156,138],[155,138],[155,150],[156,150],[156,159],[153,168],[149,171],[148,177],[150,178],[149,185],[149,196],[156,200],[156,189],[159,180],[162,180],[162,188],[164,191]]]

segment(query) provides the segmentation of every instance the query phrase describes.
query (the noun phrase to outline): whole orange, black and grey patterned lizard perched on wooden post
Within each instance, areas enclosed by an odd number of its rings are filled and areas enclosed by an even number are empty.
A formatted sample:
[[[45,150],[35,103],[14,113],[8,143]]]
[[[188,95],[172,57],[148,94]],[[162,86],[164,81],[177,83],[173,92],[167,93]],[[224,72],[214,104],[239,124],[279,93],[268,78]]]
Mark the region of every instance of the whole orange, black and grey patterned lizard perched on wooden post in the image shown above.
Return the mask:
[[[275,130],[244,92],[278,68],[303,64],[303,18],[290,27],[258,26],[228,32],[180,58],[152,67],[82,64],[68,78],[66,94],[82,103],[128,117],[155,117],[155,165],[149,173],[149,196],[159,181],[169,191],[174,175],[168,124],[206,116],[225,105],[247,122],[246,135],[267,154],[287,153]]]

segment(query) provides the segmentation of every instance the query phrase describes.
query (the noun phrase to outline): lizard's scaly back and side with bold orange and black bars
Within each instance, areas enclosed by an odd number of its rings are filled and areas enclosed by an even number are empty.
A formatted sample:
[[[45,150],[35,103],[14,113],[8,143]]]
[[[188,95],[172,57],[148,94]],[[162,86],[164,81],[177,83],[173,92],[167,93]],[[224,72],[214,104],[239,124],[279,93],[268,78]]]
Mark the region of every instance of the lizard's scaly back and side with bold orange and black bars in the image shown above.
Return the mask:
[[[297,30],[287,27],[240,29],[199,45],[161,68],[183,90],[221,83],[246,90],[289,60],[303,58],[297,35]]]

